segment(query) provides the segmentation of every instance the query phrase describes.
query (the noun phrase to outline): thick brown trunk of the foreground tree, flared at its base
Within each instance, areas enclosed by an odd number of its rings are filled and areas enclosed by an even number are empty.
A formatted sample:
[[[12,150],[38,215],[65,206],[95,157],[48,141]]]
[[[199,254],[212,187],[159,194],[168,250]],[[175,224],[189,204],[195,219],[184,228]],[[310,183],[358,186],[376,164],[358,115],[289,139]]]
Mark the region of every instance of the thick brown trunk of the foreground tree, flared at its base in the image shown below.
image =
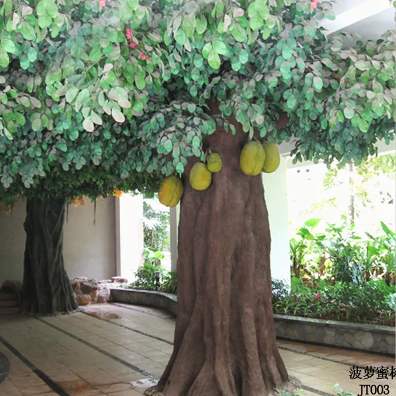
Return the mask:
[[[188,181],[193,163],[185,170],[174,349],[146,395],[266,396],[288,381],[273,325],[262,179],[239,166],[246,142],[241,130],[207,138],[223,168],[204,192]]]

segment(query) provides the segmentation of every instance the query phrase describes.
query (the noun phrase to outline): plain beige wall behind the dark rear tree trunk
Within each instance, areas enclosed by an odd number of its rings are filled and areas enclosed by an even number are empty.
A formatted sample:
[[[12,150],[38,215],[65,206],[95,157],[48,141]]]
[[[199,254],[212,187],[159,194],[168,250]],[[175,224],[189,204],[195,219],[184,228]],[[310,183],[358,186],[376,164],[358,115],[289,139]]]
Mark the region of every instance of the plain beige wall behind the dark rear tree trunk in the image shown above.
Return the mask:
[[[114,198],[69,206],[64,226],[63,257],[69,278],[86,276],[98,280],[116,275]],[[16,202],[12,214],[0,214],[0,285],[5,280],[23,280],[26,202]]]

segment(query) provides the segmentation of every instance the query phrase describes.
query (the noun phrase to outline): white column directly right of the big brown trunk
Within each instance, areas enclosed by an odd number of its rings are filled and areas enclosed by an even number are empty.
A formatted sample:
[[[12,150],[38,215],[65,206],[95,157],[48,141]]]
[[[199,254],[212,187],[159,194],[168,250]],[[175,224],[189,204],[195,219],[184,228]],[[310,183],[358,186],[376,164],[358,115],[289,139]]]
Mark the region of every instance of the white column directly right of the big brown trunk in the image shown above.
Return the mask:
[[[281,163],[275,172],[262,173],[262,180],[271,233],[271,278],[284,280],[290,285],[286,158],[281,156]]]

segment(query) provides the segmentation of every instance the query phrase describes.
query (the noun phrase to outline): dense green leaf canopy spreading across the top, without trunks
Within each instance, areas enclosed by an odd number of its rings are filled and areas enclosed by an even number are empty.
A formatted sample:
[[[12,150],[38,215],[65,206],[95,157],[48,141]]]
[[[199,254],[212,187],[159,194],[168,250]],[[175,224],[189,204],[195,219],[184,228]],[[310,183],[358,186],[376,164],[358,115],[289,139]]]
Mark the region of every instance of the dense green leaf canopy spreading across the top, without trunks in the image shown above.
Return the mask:
[[[394,139],[396,38],[345,48],[319,25],[334,17],[317,0],[3,1],[0,198],[155,187],[231,116],[295,139],[296,161],[359,163]]]

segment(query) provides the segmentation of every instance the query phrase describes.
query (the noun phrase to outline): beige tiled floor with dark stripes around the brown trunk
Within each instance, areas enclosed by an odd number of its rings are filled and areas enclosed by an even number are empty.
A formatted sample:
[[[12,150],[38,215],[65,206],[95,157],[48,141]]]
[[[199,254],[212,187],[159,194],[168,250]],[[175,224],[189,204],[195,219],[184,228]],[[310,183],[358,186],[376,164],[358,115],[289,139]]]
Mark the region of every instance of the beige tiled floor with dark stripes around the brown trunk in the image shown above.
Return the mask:
[[[85,312],[39,319],[0,316],[0,352],[10,362],[0,396],[141,396],[144,388],[131,382],[162,374],[172,352],[174,319],[156,309],[125,304],[91,305]],[[377,379],[377,374],[349,378],[353,365],[391,367],[395,359],[278,344],[289,374],[302,382],[306,396],[334,394],[335,383],[356,395],[360,385],[389,385],[389,395],[396,395],[396,379]]]

